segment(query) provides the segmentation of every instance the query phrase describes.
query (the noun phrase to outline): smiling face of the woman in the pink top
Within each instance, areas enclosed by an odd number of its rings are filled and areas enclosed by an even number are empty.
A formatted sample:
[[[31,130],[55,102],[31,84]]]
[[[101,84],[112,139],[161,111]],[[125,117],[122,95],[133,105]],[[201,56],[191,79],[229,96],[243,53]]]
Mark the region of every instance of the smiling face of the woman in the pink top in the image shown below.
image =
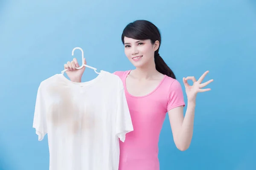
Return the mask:
[[[151,40],[135,40],[124,37],[125,55],[135,67],[142,67],[148,62],[154,62],[154,51],[157,50],[159,42],[154,44]]]

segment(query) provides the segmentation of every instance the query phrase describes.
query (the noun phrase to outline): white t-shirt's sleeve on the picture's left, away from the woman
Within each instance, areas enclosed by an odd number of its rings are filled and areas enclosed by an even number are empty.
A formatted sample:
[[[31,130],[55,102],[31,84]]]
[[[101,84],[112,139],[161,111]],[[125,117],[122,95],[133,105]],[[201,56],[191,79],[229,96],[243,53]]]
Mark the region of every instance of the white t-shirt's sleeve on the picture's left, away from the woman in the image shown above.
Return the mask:
[[[42,85],[40,84],[36,96],[35,112],[33,119],[33,127],[35,133],[38,135],[38,140],[44,139],[47,134],[47,121],[46,121],[46,105],[44,100],[44,93],[42,92]]]

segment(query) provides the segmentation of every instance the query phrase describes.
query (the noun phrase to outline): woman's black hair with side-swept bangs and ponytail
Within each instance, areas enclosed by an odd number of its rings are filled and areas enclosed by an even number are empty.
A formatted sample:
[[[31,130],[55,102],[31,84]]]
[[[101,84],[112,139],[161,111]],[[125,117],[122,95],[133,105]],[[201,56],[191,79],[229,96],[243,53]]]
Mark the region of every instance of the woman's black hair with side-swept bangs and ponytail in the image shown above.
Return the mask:
[[[156,70],[168,77],[176,79],[175,74],[164,62],[163,58],[160,57],[158,51],[161,44],[161,34],[159,29],[151,22],[147,20],[136,20],[133,23],[129,23],[122,32],[122,43],[124,44],[124,37],[132,38],[135,40],[151,40],[154,44],[157,40],[159,41],[159,47],[154,53],[154,62]]]

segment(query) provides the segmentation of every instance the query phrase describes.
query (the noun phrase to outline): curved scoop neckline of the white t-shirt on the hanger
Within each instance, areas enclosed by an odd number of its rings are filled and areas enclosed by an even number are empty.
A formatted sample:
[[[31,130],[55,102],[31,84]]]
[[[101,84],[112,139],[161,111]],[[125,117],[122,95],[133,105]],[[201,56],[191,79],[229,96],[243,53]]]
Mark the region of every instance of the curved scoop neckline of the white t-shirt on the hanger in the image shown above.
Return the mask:
[[[63,79],[65,82],[67,82],[69,85],[72,85],[73,87],[80,88],[80,89],[87,89],[90,88],[91,86],[95,85],[103,76],[105,71],[101,70],[99,72],[99,75],[95,77],[94,79],[91,79],[87,82],[72,82],[71,80],[67,79],[64,74],[58,74],[61,79]]]

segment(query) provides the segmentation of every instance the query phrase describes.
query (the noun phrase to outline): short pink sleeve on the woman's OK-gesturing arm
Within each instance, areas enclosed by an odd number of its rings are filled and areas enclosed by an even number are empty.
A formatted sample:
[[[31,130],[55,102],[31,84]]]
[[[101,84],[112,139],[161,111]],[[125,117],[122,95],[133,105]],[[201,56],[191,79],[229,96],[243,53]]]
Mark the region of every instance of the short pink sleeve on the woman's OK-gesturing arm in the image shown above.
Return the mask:
[[[167,111],[182,105],[185,106],[183,91],[180,82],[174,80],[169,88]]]

